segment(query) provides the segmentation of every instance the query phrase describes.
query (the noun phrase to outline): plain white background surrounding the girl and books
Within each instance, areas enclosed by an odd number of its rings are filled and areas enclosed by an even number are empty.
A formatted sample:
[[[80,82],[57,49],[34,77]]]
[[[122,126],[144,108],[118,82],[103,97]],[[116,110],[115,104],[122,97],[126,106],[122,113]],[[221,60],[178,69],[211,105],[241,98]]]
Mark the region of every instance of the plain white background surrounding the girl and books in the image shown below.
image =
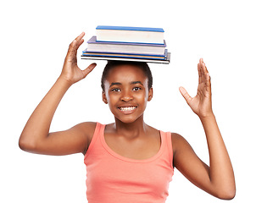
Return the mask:
[[[19,150],[19,134],[58,78],[68,46],[82,31],[87,41],[97,25],[164,28],[169,65],[149,64],[153,101],[145,120],[182,134],[209,162],[202,125],[178,91],[195,96],[197,64],[212,78],[214,113],[231,156],[237,196],[255,202],[255,4],[253,1],[1,1],[1,202],[86,202],[86,166],[81,154],[42,156]],[[78,55],[86,48],[84,43]],[[85,69],[91,61],[78,61]],[[76,123],[114,121],[101,99],[105,62],[64,96],[52,131]],[[247,200],[245,200],[247,199]],[[193,186],[175,170],[167,202],[223,202]]]

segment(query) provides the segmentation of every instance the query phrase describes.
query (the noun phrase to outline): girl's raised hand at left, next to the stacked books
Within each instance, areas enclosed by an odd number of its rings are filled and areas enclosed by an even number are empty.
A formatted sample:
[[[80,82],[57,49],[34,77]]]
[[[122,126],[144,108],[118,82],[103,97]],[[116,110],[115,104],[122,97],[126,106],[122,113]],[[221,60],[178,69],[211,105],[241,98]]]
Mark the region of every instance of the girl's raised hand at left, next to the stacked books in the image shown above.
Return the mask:
[[[77,49],[84,42],[82,39],[83,36],[85,36],[84,32],[82,32],[80,36],[77,36],[75,40],[70,43],[69,51],[64,60],[64,66],[60,74],[60,78],[67,80],[70,85],[73,85],[74,83],[84,79],[86,75],[89,74],[97,65],[96,63],[92,63],[84,70],[81,70],[77,66],[76,53]]]

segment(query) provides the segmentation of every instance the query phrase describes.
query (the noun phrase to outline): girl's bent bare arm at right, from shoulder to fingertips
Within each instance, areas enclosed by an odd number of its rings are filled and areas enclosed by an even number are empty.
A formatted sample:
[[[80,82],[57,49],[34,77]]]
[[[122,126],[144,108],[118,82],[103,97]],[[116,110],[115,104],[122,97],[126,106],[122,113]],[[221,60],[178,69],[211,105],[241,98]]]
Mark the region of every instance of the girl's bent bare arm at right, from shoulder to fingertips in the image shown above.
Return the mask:
[[[198,63],[198,95],[191,97],[181,87],[187,104],[200,118],[209,148],[209,166],[202,162],[192,147],[179,134],[174,134],[174,164],[186,178],[199,188],[220,199],[231,200],[236,184],[231,160],[214,117],[211,103],[211,85],[208,70],[200,59]]]

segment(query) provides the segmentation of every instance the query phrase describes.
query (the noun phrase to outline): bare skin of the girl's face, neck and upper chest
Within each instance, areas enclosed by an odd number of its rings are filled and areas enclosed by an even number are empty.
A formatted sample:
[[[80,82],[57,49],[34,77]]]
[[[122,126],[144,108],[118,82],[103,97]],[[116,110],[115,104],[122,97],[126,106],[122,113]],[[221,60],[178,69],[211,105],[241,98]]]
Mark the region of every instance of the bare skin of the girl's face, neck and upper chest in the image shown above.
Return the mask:
[[[115,123],[105,128],[105,140],[121,156],[145,159],[155,155],[160,148],[159,130],[144,123],[143,113],[152,99],[147,77],[136,66],[122,65],[111,69],[104,83],[103,102],[109,104]],[[121,107],[135,107],[121,111]]]

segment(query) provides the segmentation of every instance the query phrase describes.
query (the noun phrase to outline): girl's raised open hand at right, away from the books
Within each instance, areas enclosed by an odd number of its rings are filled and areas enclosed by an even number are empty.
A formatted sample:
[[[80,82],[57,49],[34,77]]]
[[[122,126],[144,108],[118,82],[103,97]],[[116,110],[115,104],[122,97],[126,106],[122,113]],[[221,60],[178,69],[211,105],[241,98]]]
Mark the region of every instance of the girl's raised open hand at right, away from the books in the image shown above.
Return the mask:
[[[184,87],[180,87],[181,95],[185,98],[189,107],[195,112],[199,118],[205,118],[212,115],[211,102],[211,82],[209,72],[206,69],[203,58],[198,63],[198,94],[191,97]]]

